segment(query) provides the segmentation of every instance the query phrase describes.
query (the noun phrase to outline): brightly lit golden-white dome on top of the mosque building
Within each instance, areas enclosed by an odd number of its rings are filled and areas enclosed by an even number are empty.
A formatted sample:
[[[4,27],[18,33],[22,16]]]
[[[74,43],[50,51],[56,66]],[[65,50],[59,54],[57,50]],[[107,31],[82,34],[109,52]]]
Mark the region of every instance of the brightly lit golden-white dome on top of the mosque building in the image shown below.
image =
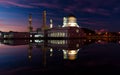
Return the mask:
[[[62,27],[79,27],[76,17],[74,15],[69,15],[68,18],[64,17]]]

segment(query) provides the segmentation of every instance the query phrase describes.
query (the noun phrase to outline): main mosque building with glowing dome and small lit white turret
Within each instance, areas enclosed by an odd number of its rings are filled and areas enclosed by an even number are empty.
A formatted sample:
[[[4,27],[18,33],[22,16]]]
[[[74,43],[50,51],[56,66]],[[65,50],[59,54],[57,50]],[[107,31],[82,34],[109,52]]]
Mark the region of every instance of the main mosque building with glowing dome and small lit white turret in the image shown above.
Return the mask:
[[[74,15],[63,17],[62,27],[53,27],[52,21],[50,28],[46,30],[47,38],[84,38],[85,33],[77,24],[77,19]]]

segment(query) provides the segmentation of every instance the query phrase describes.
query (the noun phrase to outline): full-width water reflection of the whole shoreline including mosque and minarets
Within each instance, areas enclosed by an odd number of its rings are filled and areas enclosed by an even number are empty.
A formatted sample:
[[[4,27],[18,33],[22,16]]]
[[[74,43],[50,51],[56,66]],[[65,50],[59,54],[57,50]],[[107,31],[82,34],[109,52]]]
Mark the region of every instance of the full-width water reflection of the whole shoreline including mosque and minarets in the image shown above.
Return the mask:
[[[28,45],[28,58],[32,59],[32,50],[39,48],[42,50],[43,58],[46,58],[46,52],[49,52],[49,56],[53,56],[54,51],[61,51],[63,59],[75,60],[79,50],[85,45],[96,43],[106,44],[109,42],[118,42],[118,40],[91,40],[91,39],[80,39],[80,40],[1,40],[1,43],[11,46],[16,45]],[[48,53],[47,53],[48,54]],[[44,60],[45,61],[45,60]]]

